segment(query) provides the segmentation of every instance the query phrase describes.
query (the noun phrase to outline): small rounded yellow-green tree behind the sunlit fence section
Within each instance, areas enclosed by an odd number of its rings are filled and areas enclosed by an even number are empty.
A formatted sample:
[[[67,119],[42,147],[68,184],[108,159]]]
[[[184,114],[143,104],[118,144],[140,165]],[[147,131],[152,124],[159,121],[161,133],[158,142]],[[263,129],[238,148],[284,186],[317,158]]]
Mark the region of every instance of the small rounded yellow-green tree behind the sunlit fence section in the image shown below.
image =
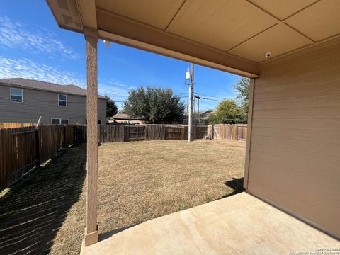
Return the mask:
[[[208,121],[210,125],[244,123],[242,108],[233,99],[224,100],[217,106],[216,115],[210,115]]]

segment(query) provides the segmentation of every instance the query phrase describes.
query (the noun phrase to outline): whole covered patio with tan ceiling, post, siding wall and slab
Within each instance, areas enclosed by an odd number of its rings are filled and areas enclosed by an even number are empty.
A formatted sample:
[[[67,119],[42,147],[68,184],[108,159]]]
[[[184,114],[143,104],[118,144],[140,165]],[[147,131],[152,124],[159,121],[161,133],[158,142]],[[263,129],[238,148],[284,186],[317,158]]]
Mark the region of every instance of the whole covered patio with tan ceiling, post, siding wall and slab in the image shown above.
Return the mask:
[[[288,254],[339,247],[339,1],[47,3],[61,28],[86,40],[84,254]],[[245,193],[98,237],[99,39],[251,78]]]

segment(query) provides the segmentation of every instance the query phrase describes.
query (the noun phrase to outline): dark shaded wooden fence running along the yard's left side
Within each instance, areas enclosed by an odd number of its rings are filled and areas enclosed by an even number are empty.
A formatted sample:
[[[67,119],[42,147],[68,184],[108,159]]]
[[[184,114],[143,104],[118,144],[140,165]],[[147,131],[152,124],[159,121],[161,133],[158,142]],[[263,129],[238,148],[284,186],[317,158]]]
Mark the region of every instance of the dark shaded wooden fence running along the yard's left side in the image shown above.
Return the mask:
[[[0,129],[0,190],[73,143],[72,125]]]

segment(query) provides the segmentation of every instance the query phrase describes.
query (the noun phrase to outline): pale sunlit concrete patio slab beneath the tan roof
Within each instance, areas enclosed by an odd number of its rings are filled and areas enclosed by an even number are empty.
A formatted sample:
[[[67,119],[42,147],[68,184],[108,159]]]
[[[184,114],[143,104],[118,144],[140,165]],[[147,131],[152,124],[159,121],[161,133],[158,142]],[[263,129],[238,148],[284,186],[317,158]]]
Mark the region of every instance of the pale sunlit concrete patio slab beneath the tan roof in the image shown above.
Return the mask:
[[[81,254],[293,254],[340,242],[262,200],[239,193],[149,220]]]

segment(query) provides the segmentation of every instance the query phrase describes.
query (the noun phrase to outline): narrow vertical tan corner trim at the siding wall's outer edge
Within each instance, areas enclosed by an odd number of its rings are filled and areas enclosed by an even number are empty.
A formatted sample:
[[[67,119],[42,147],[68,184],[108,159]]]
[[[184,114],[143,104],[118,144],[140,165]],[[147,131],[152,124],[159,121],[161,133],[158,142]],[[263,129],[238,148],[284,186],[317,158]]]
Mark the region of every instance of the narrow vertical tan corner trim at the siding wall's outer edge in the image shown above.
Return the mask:
[[[246,130],[246,162],[244,164],[244,181],[243,187],[248,188],[248,176],[249,176],[249,159],[250,159],[250,142],[251,142],[251,123],[253,121],[253,104],[254,104],[254,86],[255,79],[250,80],[249,87],[249,109],[248,109],[248,123]]]

